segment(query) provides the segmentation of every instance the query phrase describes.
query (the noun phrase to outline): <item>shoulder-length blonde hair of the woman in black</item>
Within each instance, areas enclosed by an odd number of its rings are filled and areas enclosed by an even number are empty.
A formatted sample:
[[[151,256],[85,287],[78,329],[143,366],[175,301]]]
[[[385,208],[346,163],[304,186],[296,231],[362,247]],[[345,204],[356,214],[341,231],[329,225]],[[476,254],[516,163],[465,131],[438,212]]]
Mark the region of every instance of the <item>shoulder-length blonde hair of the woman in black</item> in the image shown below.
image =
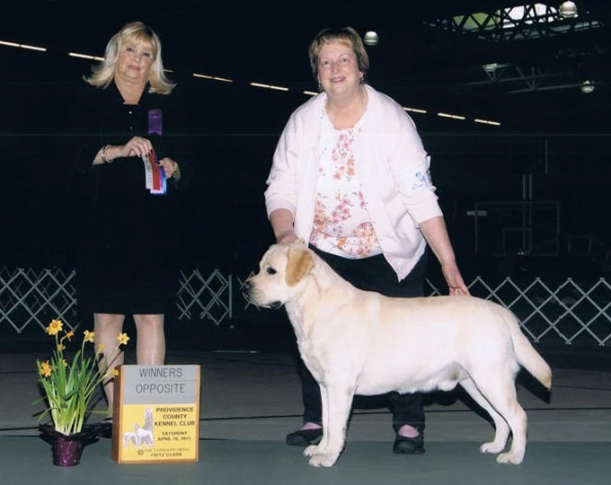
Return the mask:
[[[157,34],[142,22],[129,22],[119,32],[111,37],[106,45],[104,60],[97,66],[92,67],[92,75],[84,76],[84,80],[96,87],[106,88],[114,77],[114,68],[123,45],[127,43],[144,42],[153,50],[153,64],[151,75],[148,79],[150,84],[149,93],[170,94],[176,84],[170,82],[164,73],[164,62],[161,57],[161,40]]]

